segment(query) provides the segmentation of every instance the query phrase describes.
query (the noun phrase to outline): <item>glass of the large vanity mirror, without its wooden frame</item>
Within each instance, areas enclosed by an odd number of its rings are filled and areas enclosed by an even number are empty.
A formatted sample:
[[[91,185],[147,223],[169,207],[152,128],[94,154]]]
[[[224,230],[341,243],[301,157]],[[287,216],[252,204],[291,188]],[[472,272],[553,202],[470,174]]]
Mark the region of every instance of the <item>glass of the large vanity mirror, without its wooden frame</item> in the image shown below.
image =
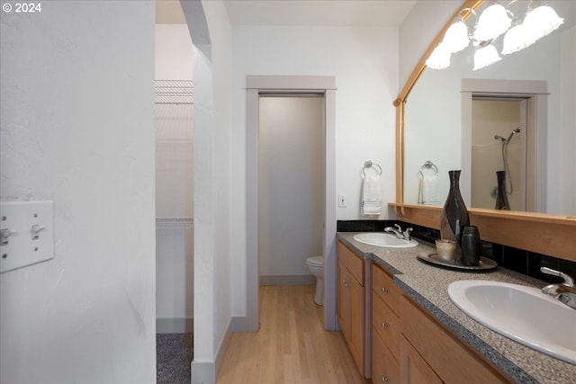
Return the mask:
[[[528,3],[508,7],[522,16]],[[506,208],[576,216],[576,2],[548,4],[564,23],[527,49],[473,70],[470,46],[422,72],[405,100],[404,202],[443,204],[448,171],[462,169],[467,206],[496,209],[505,171]],[[502,36],[493,45],[500,52]],[[422,183],[437,192],[423,196]]]

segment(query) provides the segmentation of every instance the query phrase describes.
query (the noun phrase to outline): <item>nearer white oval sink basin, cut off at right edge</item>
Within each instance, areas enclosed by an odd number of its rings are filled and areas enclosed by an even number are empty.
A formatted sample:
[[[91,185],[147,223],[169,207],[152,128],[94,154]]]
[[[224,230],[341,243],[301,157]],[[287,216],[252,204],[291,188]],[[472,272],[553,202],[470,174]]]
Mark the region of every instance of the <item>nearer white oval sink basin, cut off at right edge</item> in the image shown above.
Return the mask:
[[[456,307],[520,344],[576,364],[576,310],[536,288],[463,280],[448,286]]]

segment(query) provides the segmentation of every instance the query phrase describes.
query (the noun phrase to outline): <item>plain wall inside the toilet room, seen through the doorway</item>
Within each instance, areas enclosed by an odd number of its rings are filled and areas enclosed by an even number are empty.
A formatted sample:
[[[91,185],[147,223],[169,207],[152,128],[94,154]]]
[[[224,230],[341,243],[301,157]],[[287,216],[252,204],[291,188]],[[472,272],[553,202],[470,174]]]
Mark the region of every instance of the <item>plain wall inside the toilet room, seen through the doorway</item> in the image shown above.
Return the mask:
[[[322,255],[324,98],[260,97],[259,108],[260,282],[302,283],[306,259]]]

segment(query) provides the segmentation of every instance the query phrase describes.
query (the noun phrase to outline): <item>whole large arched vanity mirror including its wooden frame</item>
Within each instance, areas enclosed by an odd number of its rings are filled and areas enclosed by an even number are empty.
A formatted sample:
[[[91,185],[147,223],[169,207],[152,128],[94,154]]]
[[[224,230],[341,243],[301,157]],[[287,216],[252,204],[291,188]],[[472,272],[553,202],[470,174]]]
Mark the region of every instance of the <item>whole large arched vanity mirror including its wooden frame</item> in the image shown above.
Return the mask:
[[[461,9],[480,14],[492,3],[468,0]],[[521,14],[529,2],[509,3],[501,4]],[[438,228],[448,171],[461,169],[461,190],[482,239],[576,261],[576,2],[548,4],[564,18],[560,29],[479,70],[472,47],[453,54],[446,69],[426,67],[455,21],[446,14],[445,28],[395,101],[397,201],[391,206],[399,219]],[[501,39],[493,42],[499,51]],[[500,186],[509,210],[496,210],[501,170],[509,176]],[[423,196],[422,180],[435,176],[437,191]]]

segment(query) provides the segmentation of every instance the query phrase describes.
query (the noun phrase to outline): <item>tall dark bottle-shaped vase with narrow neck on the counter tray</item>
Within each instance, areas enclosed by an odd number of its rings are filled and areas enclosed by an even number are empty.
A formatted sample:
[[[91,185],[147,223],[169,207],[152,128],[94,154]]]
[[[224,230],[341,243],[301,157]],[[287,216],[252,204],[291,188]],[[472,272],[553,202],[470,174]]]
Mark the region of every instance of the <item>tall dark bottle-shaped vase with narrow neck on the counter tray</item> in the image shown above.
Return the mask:
[[[446,240],[455,240],[455,262],[462,263],[462,231],[470,225],[468,210],[460,193],[460,171],[448,171],[450,177],[450,191],[440,217],[440,237]]]

